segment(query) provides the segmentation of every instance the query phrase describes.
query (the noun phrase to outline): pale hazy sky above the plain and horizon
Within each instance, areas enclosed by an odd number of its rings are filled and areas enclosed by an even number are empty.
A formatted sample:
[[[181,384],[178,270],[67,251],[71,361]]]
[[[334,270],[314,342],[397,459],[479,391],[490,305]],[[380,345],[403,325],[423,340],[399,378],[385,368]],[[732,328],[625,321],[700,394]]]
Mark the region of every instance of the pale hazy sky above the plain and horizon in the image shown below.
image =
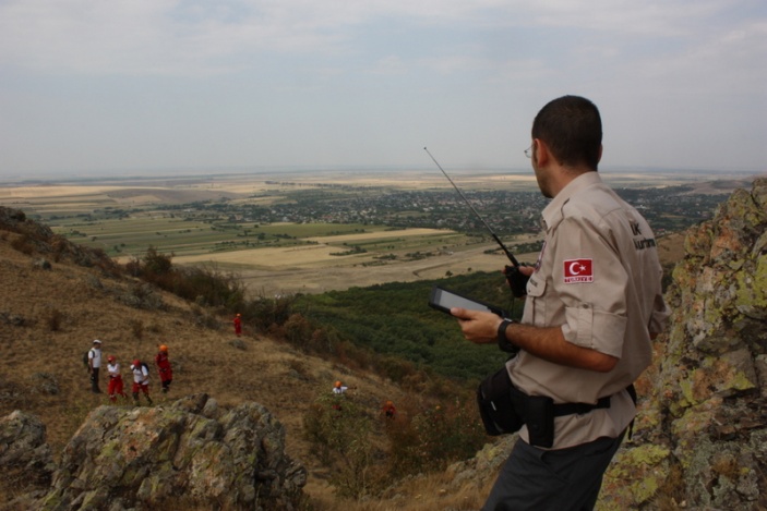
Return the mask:
[[[765,0],[0,0],[0,178],[526,168],[564,94],[602,169],[767,169]]]

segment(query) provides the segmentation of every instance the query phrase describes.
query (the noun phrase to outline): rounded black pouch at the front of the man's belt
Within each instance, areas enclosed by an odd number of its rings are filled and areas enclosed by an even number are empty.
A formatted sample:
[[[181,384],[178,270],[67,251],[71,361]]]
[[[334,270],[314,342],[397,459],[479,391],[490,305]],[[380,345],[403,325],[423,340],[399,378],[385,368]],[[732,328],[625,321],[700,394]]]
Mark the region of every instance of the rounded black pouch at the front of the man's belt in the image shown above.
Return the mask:
[[[488,435],[516,433],[524,424],[512,403],[513,388],[505,366],[482,380],[477,388],[477,405]]]

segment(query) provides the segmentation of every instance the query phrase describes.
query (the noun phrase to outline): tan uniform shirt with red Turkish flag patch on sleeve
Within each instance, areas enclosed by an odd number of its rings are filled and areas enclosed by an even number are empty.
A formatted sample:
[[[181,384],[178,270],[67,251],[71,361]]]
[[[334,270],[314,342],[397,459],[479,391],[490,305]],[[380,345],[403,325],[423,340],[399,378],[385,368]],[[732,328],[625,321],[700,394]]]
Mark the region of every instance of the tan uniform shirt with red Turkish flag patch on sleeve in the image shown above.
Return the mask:
[[[546,241],[527,284],[523,324],[561,326],[565,340],[619,358],[610,373],[547,362],[525,351],[507,363],[512,381],[555,403],[609,409],[556,417],[553,449],[616,437],[636,410],[625,388],[650,364],[650,333],[668,317],[662,269],[649,226],[597,172],[573,180],[543,210]],[[528,440],[527,427],[520,435]]]

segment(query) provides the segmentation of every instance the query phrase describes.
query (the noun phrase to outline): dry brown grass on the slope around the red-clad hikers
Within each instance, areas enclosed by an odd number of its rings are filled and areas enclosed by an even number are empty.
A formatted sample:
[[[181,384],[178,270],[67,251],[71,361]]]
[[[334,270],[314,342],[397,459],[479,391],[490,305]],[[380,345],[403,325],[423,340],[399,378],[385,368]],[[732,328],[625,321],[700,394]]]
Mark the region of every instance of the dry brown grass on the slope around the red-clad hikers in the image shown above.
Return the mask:
[[[131,308],[116,299],[131,292],[130,282],[69,264],[39,269],[33,265],[38,254],[12,247],[16,236],[0,236],[0,416],[23,410],[40,417],[57,457],[87,413],[108,404],[106,394],[89,392],[82,362],[93,339],[104,341],[105,354],[118,356],[127,381],[130,361],[152,363],[157,344],[164,343],[170,349],[173,384],[169,394],[161,394],[158,378],[153,378],[155,405],[197,392],[207,392],[223,406],[264,404],[285,425],[287,452],[309,470],[305,492],[316,511],[468,510],[478,509],[487,495],[484,489],[451,488],[434,476],[393,490],[381,501],[339,503],[325,467],[301,436],[308,406],[336,379],[353,388],[358,402],[375,410],[386,399],[418,397],[376,375],[305,355],[249,325],[238,339],[228,317],[219,318],[218,330],[197,327],[200,309],[169,294],[163,294],[167,311]],[[10,317],[21,318],[22,325],[3,320]]]

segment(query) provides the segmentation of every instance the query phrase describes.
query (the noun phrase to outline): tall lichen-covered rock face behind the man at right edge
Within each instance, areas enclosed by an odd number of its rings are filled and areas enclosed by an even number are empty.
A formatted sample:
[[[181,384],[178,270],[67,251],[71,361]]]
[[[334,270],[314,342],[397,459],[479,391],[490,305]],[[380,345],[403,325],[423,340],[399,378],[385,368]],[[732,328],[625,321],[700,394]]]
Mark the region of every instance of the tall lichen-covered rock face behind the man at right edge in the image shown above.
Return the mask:
[[[767,179],[687,232],[601,509],[767,509]]]

